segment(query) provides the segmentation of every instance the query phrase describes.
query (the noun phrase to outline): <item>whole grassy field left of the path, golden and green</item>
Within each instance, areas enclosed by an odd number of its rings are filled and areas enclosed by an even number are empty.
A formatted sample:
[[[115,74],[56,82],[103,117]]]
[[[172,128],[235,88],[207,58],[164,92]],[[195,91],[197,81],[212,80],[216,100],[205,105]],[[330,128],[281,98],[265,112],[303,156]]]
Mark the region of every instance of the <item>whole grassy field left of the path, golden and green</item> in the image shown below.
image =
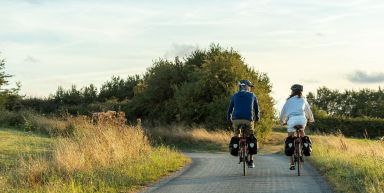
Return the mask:
[[[0,192],[135,192],[190,162],[141,128],[69,122],[71,137],[0,129]]]

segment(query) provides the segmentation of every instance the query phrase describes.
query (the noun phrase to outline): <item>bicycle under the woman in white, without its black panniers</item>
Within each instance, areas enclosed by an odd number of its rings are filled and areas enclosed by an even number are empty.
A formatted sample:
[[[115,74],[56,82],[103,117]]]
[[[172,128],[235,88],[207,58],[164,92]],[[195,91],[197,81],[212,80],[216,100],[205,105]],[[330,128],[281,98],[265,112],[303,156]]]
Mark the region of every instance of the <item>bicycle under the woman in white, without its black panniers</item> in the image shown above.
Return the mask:
[[[292,154],[292,159],[295,164],[295,167],[297,166],[297,175],[301,175],[301,168],[304,162],[304,156],[303,156],[303,149],[302,149],[302,144],[303,141],[300,137],[300,130],[304,129],[303,125],[296,125],[293,128],[296,129],[295,131],[295,140],[294,140],[294,152]]]

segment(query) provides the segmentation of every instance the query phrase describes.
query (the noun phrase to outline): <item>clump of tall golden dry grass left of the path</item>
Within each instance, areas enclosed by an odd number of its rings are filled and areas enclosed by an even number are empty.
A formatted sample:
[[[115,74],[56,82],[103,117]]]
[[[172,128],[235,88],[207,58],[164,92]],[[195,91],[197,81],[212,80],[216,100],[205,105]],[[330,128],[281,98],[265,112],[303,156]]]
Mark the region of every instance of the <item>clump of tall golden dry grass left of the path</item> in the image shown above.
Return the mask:
[[[70,120],[77,138],[60,139],[54,153],[56,167],[67,172],[120,165],[149,154],[152,147],[140,127],[94,126]]]

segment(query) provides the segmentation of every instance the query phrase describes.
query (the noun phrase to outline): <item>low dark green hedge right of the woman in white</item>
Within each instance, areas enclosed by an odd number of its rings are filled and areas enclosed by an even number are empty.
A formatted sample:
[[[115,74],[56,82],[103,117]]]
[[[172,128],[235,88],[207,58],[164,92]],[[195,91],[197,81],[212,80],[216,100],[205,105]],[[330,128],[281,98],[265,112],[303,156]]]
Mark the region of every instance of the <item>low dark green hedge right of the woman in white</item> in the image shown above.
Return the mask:
[[[321,133],[339,133],[347,137],[376,138],[384,136],[384,119],[377,118],[346,118],[316,117],[316,122],[309,128]]]

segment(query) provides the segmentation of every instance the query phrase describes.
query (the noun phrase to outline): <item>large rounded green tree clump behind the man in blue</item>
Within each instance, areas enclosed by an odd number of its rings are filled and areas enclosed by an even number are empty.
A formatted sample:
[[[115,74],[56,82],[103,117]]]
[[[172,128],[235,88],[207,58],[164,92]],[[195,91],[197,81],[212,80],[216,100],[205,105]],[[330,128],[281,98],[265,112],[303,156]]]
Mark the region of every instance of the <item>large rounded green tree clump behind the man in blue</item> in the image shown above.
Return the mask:
[[[159,123],[179,122],[224,129],[229,99],[237,82],[249,79],[260,101],[262,121],[259,137],[265,137],[273,124],[273,99],[269,78],[250,68],[233,49],[211,45],[197,49],[183,61],[159,59],[148,69],[135,90],[130,116]]]

